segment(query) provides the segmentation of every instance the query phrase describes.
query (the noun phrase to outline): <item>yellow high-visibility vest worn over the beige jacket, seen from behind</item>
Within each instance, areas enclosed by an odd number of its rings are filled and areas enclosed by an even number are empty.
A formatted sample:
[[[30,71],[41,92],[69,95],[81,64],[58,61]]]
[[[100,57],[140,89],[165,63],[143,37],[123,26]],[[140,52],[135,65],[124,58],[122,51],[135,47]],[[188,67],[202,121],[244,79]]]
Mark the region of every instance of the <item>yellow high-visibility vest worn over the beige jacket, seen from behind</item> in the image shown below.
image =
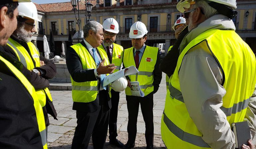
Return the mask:
[[[181,52],[175,72],[170,77],[170,94],[166,95],[161,123],[162,139],[167,148],[174,146],[192,149],[209,148],[202,140],[202,133],[197,129],[187,111],[179,80],[179,70],[184,56],[190,49],[199,47],[206,52],[211,52],[222,71],[221,85],[225,88],[226,94],[220,109],[225,113],[230,125],[244,120],[250,96],[255,87],[255,56],[234,31],[210,29],[200,34]],[[247,67],[241,69],[244,65]]]

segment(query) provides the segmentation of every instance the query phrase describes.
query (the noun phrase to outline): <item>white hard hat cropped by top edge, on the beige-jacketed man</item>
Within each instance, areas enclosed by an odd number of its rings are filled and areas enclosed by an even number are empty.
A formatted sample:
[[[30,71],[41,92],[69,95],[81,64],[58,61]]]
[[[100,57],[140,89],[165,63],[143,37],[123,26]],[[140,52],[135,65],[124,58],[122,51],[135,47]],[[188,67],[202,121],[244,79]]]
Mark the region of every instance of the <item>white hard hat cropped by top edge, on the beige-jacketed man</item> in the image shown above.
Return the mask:
[[[181,0],[178,4],[177,4],[177,9],[178,11],[184,13],[185,9],[184,8],[190,8],[190,5],[195,4],[196,0]],[[208,0],[208,1],[212,1],[212,2],[216,2],[219,4],[223,4],[223,5],[227,5],[231,8],[236,9],[236,0]]]

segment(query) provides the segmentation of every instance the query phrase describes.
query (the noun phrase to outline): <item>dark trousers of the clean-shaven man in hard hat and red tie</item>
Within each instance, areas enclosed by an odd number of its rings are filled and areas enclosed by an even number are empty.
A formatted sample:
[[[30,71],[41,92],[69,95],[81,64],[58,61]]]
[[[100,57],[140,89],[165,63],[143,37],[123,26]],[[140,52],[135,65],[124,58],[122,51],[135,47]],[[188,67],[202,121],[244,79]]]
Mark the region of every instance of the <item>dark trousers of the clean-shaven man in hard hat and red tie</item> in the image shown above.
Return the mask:
[[[146,125],[145,138],[147,146],[153,146],[154,137],[154,122],[153,122],[153,92],[145,97],[127,96],[127,109],[128,109],[128,141],[127,144],[135,142],[137,133],[137,118],[139,112],[139,104],[141,112]]]

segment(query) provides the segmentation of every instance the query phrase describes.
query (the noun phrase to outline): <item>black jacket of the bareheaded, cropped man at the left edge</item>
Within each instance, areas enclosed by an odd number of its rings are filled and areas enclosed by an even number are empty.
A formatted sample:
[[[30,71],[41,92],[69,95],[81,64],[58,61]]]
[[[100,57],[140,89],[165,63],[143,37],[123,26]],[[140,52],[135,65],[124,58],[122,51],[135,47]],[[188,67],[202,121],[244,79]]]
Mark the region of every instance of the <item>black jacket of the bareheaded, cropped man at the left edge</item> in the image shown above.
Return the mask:
[[[2,61],[0,92],[0,148],[43,149],[33,98]]]

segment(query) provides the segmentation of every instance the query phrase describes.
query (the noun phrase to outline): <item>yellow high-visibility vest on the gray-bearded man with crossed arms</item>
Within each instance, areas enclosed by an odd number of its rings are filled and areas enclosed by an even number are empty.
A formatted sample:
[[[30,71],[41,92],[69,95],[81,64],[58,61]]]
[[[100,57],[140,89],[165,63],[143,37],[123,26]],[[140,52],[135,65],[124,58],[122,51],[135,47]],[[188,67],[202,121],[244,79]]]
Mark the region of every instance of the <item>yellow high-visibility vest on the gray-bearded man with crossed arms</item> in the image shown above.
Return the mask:
[[[12,38],[9,38],[7,42],[7,45],[15,52],[17,60],[28,70],[33,70],[35,67],[40,67],[40,54],[38,48],[32,42],[28,42],[27,44],[29,51]],[[46,105],[46,96],[51,102],[53,101],[48,88],[39,89],[36,92],[42,107]]]

